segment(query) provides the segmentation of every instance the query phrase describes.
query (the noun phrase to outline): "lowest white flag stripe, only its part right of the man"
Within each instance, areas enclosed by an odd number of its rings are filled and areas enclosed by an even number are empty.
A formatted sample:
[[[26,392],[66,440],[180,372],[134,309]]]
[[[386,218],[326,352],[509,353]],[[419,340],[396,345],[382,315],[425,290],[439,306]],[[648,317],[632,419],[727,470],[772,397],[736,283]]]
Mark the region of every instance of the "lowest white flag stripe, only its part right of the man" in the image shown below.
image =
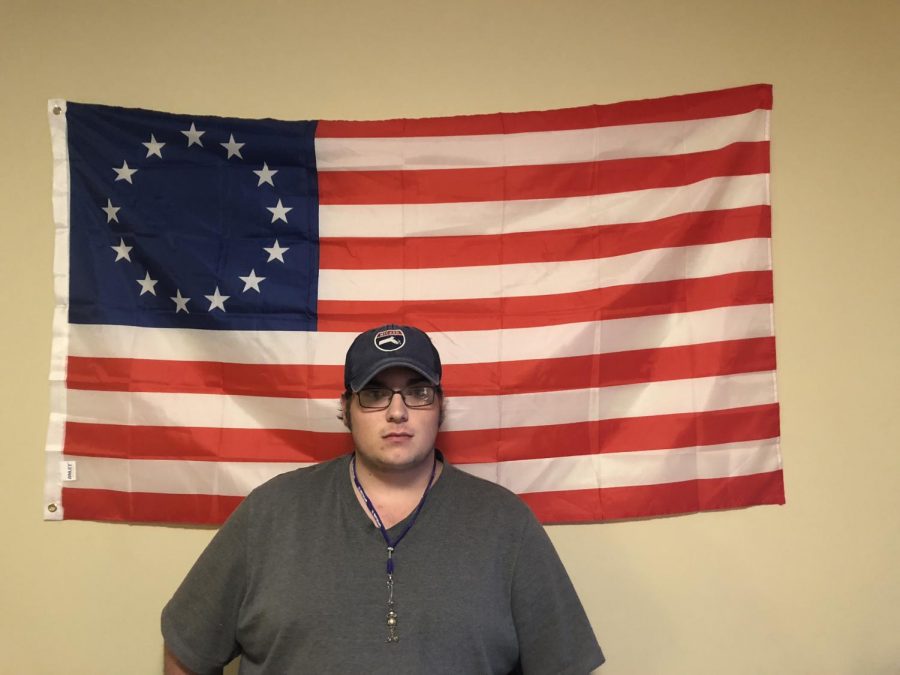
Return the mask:
[[[777,438],[675,450],[526,459],[459,468],[517,494],[657,485],[777,471]]]

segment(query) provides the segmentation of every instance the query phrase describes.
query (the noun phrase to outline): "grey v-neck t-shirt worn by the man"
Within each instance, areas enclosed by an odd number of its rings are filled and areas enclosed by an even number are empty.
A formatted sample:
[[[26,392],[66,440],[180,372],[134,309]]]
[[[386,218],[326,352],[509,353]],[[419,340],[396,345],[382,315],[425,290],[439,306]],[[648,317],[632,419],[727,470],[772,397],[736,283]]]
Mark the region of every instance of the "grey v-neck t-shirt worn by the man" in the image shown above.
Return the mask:
[[[528,507],[446,464],[394,553],[400,641],[388,643],[386,545],[348,462],[274,478],[221,527],[163,610],[184,665],[242,654],[247,674],[583,674],[603,662]]]

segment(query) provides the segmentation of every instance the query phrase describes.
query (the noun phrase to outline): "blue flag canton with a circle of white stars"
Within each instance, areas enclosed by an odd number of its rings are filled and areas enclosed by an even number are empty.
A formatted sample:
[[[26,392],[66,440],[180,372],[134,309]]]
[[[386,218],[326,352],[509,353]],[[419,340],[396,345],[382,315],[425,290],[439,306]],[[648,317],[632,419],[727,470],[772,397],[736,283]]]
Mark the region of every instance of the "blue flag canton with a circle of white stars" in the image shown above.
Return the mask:
[[[315,330],[315,122],[67,104],[69,321]]]

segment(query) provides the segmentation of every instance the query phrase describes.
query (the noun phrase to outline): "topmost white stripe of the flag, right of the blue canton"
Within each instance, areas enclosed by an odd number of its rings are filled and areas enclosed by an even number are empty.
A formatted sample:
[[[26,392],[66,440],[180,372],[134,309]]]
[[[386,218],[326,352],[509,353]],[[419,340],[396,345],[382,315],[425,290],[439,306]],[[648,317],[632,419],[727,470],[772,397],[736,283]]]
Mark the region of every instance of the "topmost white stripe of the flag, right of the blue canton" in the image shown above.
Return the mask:
[[[767,140],[768,119],[768,110],[754,110],[727,117],[562,131],[316,138],[316,166],[319,171],[468,169],[676,155]]]

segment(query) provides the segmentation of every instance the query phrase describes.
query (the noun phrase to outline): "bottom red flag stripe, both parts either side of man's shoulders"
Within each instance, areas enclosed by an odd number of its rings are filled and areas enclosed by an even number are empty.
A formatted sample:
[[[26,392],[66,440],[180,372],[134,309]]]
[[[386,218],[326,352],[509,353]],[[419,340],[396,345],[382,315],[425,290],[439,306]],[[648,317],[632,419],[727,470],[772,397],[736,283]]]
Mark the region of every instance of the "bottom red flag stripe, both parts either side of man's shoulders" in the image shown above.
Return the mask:
[[[521,495],[544,523],[640,518],[700,510],[784,504],[782,472],[598,490]],[[241,497],[63,488],[65,517],[144,523],[218,525]]]

